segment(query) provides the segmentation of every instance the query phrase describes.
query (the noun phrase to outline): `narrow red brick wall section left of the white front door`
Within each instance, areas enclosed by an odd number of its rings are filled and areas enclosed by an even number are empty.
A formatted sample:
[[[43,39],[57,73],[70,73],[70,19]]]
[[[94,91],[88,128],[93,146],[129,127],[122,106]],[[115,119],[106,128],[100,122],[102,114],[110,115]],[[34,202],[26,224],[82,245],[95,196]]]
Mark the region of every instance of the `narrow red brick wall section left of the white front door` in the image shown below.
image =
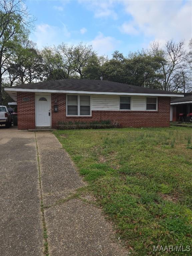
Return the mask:
[[[29,98],[29,101],[23,101],[23,98]],[[17,116],[18,129],[35,128],[35,93],[17,92]]]

